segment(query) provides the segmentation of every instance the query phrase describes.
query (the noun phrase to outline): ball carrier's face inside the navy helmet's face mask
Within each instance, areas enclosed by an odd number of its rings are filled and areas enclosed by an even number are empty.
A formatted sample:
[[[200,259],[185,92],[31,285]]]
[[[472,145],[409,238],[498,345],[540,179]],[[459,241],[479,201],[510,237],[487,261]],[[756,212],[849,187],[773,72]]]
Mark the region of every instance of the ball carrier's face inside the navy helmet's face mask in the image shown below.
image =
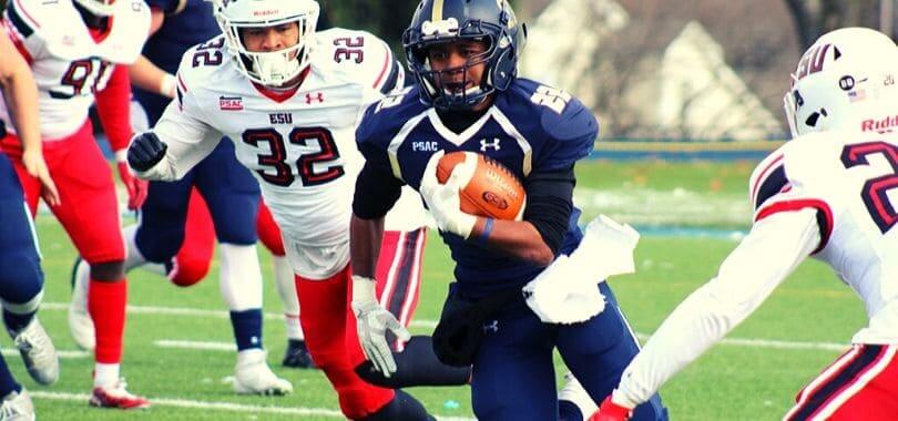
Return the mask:
[[[487,43],[473,40],[459,40],[428,48],[430,70],[440,72],[439,79],[435,81],[438,84],[437,89],[459,92],[480,85],[487,64],[479,59],[484,52]],[[469,62],[477,61],[480,62],[465,66]]]

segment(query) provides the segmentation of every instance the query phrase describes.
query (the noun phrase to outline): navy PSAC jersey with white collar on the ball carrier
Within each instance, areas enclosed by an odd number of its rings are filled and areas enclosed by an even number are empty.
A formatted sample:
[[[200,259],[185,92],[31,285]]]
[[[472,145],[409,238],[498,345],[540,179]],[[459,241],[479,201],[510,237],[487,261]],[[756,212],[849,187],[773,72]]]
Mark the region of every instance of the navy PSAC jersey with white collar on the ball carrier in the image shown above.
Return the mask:
[[[518,79],[498,92],[487,113],[461,134],[447,129],[436,110],[419,101],[417,88],[410,86],[370,106],[356,141],[367,166],[418,189],[428,160],[440,150],[486,154],[525,179],[533,173],[570,168],[592,151],[598,133],[595,117],[580,101],[564,91]],[[579,216],[574,208],[560,253],[580,243]],[[456,235],[440,234],[456,261],[460,290],[472,297],[523,286],[542,270]]]

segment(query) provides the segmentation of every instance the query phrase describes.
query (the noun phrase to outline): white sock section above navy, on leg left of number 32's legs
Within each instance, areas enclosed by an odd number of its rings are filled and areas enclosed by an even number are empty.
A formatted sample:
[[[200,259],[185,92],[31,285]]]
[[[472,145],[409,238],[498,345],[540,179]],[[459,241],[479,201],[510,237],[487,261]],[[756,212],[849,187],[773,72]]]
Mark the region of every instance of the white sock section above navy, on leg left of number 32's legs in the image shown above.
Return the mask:
[[[227,308],[231,311],[262,308],[262,268],[256,246],[222,243],[218,255],[218,288]]]

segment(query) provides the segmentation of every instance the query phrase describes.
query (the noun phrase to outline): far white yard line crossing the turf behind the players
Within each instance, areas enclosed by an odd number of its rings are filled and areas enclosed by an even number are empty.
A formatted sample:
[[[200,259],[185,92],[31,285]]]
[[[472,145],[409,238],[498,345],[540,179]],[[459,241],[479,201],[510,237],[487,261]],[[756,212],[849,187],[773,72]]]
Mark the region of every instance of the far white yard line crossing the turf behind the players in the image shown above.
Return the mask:
[[[69,308],[65,302],[44,302],[41,305],[43,310],[64,311]],[[133,315],[165,315],[165,316],[191,316],[191,317],[216,317],[227,318],[227,311],[222,310],[200,310],[187,307],[155,307],[155,306],[127,306],[127,312]],[[283,319],[283,316],[277,312],[266,312],[266,319]],[[416,328],[432,329],[437,326],[437,320],[412,320],[411,326]],[[650,335],[637,332],[636,336],[641,340],[645,340]],[[173,341],[174,342],[174,341]],[[186,342],[186,341],[185,341]],[[202,342],[196,342],[202,343]],[[217,347],[217,342],[213,347]],[[746,347],[746,348],[776,348],[776,349],[809,349],[809,350],[825,350],[825,351],[843,351],[848,349],[849,345],[838,342],[799,342],[787,340],[772,340],[772,339],[753,339],[753,338],[724,338],[720,343]],[[162,346],[162,345],[160,345]],[[172,346],[174,347],[174,346]],[[198,346],[195,346],[198,347]],[[188,347],[184,347],[188,348]],[[200,348],[197,348],[200,349]],[[233,349],[231,349],[233,350]]]

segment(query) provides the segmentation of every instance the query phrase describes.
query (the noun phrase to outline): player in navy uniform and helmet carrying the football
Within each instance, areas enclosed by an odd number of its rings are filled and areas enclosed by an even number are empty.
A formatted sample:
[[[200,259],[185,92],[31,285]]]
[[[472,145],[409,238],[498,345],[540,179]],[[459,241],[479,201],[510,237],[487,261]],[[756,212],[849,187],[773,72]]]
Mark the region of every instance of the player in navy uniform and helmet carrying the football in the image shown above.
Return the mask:
[[[599,402],[639,352],[606,283],[599,286],[604,311],[578,324],[542,322],[522,298],[521,288],[583,237],[572,204],[574,164],[592,151],[599,131],[590,110],[570,94],[516,78],[523,40],[504,0],[422,0],[404,34],[418,84],[369,107],[356,132],[366,164],[353,204],[354,291],[370,288],[382,217],[400,187],[411,186],[456,263],[440,325],[466,317],[453,308],[488,311],[468,355],[437,350],[473,362],[472,405],[482,420],[569,418],[555,400],[555,348]],[[523,220],[462,213],[458,185],[436,182],[435,160],[453,151],[486,154],[522,179]],[[382,336],[397,324],[370,302],[354,299],[353,307],[366,356],[381,371],[394,370]],[[633,419],[666,419],[666,410],[655,396]]]

